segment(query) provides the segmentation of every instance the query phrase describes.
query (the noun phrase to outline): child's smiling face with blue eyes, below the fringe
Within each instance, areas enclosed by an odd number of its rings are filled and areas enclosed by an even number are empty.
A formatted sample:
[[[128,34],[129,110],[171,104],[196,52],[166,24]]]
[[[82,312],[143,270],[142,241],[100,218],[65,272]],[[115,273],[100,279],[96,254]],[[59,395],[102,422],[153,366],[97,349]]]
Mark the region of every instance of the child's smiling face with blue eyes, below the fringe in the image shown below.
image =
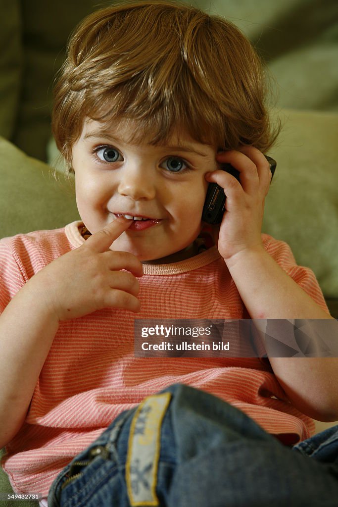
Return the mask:
[[[127,143],[131,125],[119,123],[102,132],[99,122],[85,122],[72,148],[78,209],[91,233],[116,214],[152,219],[134,221],[113,248],[141,261],[162,259],[191,245],[200,233],[204,176],[217,169],[216,149],[183,134],[178,146],[177,133],[168,146],[155,147],[146,139],[141,145]]]

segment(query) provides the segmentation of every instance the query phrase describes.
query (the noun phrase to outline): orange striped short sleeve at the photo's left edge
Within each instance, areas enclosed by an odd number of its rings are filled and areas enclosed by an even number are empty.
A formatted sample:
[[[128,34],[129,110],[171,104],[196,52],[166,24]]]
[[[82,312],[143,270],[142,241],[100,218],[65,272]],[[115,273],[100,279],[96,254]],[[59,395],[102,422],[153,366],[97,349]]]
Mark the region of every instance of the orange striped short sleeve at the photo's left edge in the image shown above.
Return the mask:
[[[9,239],[0,240],[0,313],[26,282]]]

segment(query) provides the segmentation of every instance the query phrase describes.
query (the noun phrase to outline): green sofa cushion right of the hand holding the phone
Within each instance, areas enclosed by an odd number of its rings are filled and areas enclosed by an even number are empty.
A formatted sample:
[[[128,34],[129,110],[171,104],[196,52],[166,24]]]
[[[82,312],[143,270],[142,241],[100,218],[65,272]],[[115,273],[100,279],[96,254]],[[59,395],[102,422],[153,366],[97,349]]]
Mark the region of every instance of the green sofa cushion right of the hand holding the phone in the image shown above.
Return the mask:
[[[282,110],[277,169],[263,230],[286,241],[297,264],[315,272],[325,297],[338,298],[338,114]]]

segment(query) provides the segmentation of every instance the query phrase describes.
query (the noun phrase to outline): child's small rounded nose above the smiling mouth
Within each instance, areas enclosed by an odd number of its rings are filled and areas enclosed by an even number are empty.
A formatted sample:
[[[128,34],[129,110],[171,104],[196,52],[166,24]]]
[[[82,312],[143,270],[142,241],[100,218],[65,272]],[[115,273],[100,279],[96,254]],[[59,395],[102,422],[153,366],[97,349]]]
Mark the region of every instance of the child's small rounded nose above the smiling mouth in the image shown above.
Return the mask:
[[[118,192],[135,201],[154,199],[156,195],[155,177],[151,168],[144,165],[137,164],[128,169],[125,167],[121,171]]]

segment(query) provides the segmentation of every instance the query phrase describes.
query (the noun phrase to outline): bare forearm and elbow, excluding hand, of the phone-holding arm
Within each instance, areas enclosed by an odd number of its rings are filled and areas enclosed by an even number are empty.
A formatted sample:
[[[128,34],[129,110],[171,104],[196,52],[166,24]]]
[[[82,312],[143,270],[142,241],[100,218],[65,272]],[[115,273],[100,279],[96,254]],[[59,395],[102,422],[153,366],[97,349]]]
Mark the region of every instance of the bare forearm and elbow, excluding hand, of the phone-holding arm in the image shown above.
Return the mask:
[[[332,318],[264,249],[239,254],[228,268],[252,318]],[[270,357],[270,364],[298,410],[317,420],[338,419],[338,358]]]

